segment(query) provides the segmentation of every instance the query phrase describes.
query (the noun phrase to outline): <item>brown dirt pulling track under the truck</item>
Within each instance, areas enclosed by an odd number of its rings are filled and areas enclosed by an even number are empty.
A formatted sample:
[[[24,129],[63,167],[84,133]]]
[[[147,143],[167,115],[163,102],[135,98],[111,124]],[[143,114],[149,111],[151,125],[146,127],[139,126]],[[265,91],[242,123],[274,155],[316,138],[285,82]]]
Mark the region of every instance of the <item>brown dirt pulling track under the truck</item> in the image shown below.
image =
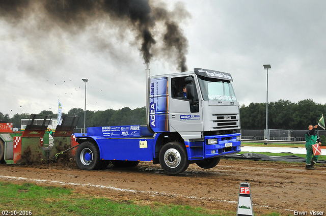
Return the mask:
[[[104,196],[113,200],[152,201],[208,209],[236,211],[239,183],[251,186],[256,215],[267,212],[324,211],[326,215],[326,165],[305,170],[304,164],[224,160],[213,169],[196,164],[177,176],[166,174],[159,165],[141,162],[134,168],[79,170],[74,162],[38,166],[0,165],[0,181],[28,181],[62,185],[76,193]],[[43,181],[39,181],[43,180]]]

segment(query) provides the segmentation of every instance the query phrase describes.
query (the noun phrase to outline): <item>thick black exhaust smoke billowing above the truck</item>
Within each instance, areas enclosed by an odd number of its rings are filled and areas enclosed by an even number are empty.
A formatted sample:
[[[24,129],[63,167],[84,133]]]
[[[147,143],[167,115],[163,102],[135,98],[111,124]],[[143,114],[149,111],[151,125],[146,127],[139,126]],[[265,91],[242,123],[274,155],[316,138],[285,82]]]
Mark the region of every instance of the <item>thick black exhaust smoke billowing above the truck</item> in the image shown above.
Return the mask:
[[[45,15],[50,23],[38,20],[48,30],[59,26],[71,34],[77,34],[93,25],[95,21],[110,20],[124,23],[127,28],[135,30],[136,40],[148,66],[153,56],[172,60],[178,71],[187,70],[186,57],[188,42],[176,20],[189,16],[181,5],[177,12],[165,9],[164,5],[151,6],[149,0],[0,0],[0,17],[16,24],[31,15]],[[35,16],[37,17],[37,16]],[[157,23],[164,23],[164,33],[154,30]],[[120,25],[121,27],[121,25]],[[157,33],[160,32],[160,33]],[[153,34],[157,35],[153,35]],[[108,39],[110,40],[110,39]],[[160,43],[156,43],[160,40]],[[162,41],[162,43],[161,43]],[[158,45],[159,44],[159,45]],[[154,46],[155,49],[153,49]],[[164,54],[164,56],[162,56]]]

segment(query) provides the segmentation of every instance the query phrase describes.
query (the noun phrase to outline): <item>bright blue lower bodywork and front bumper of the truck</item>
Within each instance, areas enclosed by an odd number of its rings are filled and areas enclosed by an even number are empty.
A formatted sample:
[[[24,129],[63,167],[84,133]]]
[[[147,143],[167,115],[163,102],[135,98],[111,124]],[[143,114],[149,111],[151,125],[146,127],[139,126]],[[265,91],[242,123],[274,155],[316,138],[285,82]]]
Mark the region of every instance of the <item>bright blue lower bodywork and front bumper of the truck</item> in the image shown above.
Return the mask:
[[[139,130],[127,130],[131,127],[139,128]],[[111,132],[111,128],[115,131]],[[105,130],[105,132],[103,132],[103,130]],[[110,137],[106,136],[105,134],[109,130],[114,135],[111,135]],[[94,140],[99,147],[100,160],[154,161],[155,158],[158,158],[158,154],[155,153],[156,144],[158,144],[157,138],[164,136],[164,134],[157,133],[154,137],[148,131],[146,126],[133,125],[93,127],[88,128],[88,133],[84,134],[84,136],[83,134],[75,134],[75,136],[79,142],[83,142],[83,140]],[[187,158],[189,161],[198,161],[227,155],[230,152],[239,152],[241,142],[237,141],[237,136],[240,136],[240,133],[206,136],[205,140],[202,142],[186,141],[185,147],[187,151]],[[208,139],[218,139],[218,144],[205,144],[207,143]],[[226,147],[225,145],[227,143],[232,143],[232,146]],[[212,153],[212,151],[215,151],[215,153]]]

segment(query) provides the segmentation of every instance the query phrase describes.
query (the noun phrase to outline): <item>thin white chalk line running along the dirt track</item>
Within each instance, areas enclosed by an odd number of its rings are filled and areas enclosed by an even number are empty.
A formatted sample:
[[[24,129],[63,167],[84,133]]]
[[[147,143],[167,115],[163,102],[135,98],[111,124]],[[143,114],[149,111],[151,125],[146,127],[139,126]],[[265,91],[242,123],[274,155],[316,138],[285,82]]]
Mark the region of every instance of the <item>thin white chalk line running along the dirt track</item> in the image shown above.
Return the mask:
[[[153,192],[153,191],[136,191],[136,190],[116,188],[116,187],[111,187],[111,186],[102,186],[102,185],[99,185],[99,184],[81,184],[81,183],[74,183],[74,182],[43,180],[43,179],[5,176],[5,175],[0,175],[0,178],[5,178],[5,179],[8,179],[8,180],[13,179],[13,180],[33,181],[33,182],[36,182],[36,183],[49,182],[49,183],[56,183],[56,184],[61,184],[61,185],[93,187],[93,188],[105,188],[105,189],[111,189],[111,190],[115,190],[115,191],[124,191],[124,192],[132,192],[132,193],[147,193],[147,194],[154,194],[154,195],[171,196],[171,194],[168,194],[168,193]],[[196,196],[182,196],[182,195],[178,195],[178,194],[173,194],[173,196],[183,197],[183,198],[191,198],[191,199],[207,199],[207,200],[213,200],[213,201],[218,201],[218,202],[226,202],[226,203],[237,203],[236,201],[230,201],[230,200],[218,200],[218,199],[214,199],[214,198],[205,198],[205,197],[196,197]],[[273,208],[273,207],[269,207],[268,205],[256,205],[256,204],[253,204],[253,205],[255,205],[257,207],[262,207],[262,208]],[[279,209],[279,208],[274,207],[274,209]],[[291,209],[283,209],[283,210],[294,211],[294,210],[291,210]]]

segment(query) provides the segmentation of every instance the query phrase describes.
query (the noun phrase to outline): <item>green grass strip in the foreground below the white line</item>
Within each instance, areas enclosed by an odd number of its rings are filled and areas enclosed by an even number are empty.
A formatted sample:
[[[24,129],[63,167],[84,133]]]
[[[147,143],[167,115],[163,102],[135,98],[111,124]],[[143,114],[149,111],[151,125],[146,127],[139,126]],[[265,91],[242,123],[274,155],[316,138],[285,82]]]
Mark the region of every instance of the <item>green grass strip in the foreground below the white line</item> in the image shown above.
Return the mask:
[[[0,182],[0,213],[24,215],[236,215],[234,211],[209,210],[200,207],[166,205],[162,203],[135,204],[133,201],[112,201],[91,195],[76,194],[71,189],[37,186],[33,183]],[[5,211],[5,212],[4,212]],[[278,216],[276,212],[264,216]]]

